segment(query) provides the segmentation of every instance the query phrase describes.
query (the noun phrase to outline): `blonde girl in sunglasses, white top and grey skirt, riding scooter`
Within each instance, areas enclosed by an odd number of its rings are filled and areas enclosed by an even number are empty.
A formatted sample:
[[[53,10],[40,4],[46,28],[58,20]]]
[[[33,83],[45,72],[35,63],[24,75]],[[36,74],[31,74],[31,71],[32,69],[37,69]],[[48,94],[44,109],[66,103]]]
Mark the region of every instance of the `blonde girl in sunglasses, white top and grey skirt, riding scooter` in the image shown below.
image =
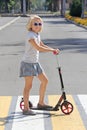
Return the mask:
[[[39,102],[37,107],[41,109],[51,107],[44,103],[48,78],[39,63],[39,52],[54,52],[58,54],[59,50],[48,47],[41,41],[39,32],[42,30],[42,26],[43,21],[37,15],[31,16],[27,24],[28,34],[26,39],[26,48],[20,66],[20,77],[24,77],[25,79],[25,87],[23,91],[24,115],[36,114],[29,108],[28,103],[34,76],[37,76],[41,82],[39,89]]]

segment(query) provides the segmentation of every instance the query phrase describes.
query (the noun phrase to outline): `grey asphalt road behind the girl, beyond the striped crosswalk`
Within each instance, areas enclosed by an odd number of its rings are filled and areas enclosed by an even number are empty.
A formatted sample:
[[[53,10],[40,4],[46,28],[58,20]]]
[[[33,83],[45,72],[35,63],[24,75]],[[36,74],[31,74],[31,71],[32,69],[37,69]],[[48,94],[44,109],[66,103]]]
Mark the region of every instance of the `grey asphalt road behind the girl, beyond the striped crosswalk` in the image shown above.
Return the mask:
[[[13,19],[0,18],[0,28]],[[0,30],[0,96],[22,95],[24,80],[19,78],[19,66],[24,53],[27,21],[28,17],[20,17]],[[58,58],[66,92],[87,94],[87,30],[61,17],[43,18],[43,21],[42,40],[60,49]],[[56,56],[40,53],[40,61],[49,78],[46,94],[60,94]],[[31,94],[38,94],[39,84],[35,78]]]

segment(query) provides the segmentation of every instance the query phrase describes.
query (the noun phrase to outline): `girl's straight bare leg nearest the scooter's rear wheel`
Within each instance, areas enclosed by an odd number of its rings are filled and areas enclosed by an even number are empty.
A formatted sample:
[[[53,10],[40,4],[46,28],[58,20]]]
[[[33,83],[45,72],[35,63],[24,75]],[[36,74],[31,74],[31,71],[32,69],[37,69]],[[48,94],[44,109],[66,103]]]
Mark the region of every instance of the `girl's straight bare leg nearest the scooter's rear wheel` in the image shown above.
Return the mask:
[[[29,110],[29,93],[32,88],[33,76],[25,77],[25,87],[23,92],[24,110]]]

